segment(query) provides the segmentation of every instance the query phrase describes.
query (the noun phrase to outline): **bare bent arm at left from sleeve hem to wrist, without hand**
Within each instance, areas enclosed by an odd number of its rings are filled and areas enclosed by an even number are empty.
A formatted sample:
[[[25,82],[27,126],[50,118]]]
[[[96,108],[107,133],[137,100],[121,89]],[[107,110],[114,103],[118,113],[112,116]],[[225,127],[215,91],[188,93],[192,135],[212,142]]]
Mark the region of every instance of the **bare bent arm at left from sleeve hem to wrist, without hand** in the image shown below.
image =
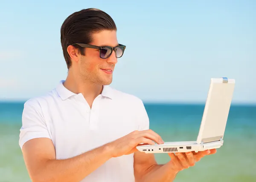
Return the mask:
[[[70,159],[55,159],[51,139],[31,139],[22,148],[24,161],[33,182],[78,182],[111,158],[104,145]]]

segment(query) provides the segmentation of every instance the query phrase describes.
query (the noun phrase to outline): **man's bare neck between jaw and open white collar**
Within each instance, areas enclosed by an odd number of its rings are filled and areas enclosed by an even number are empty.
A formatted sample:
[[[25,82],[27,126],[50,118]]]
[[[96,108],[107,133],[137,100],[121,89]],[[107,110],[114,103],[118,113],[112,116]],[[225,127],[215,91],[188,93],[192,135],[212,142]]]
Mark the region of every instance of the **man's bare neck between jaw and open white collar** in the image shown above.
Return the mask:
[[[88,102],[90,107],[92,106],[93,100],[102,93],[103,89],[103,85],[98,85],[89,80],[82,80],[81,77],[72,74],[71,70],[63,85],[75,94],[83,94],[84,99]]]

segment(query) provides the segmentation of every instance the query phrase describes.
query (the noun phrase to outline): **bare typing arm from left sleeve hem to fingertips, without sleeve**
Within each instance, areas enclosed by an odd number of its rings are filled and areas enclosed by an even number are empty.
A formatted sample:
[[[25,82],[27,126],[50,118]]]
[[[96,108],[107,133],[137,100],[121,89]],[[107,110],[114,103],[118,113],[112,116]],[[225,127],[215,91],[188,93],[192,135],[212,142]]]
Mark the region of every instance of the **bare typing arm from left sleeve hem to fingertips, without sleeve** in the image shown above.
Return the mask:
[[[158,142],[159,139],[151,130],[134,131],[69,159],[55,159],[55,148],[48,138],[30,139],[23,145],[22,151],[33,182],[78,182],[108,159],[134,153],[140,143],[154,144],[152,140]]]

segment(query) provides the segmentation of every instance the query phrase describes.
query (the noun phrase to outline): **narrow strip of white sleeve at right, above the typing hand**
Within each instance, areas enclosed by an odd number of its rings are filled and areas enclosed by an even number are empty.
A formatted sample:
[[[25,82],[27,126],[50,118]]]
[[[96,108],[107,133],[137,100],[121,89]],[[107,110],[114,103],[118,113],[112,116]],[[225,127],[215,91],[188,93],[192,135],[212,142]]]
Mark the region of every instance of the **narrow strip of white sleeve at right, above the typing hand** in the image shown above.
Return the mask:
[[[145,109],[145,106],[142,102],[142,100],[140,100],[140,109],[138,109],[139,112],[139,131],[143,131],[143,130],[148,130],[149,129],[149,118],[148,118],[148,114],[147,111]]]

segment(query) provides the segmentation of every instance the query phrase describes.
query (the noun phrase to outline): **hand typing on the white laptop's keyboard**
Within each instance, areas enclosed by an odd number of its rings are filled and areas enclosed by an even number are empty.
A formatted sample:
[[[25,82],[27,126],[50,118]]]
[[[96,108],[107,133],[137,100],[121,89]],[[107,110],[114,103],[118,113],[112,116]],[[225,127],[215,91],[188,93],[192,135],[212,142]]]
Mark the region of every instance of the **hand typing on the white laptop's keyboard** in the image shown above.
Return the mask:
[[[108,147],[111,148],[112,157],[118,157],[134,153],[137,151],[136,147],[138,145],[154,145],[153,141],[157,144],[164,143],[163,139],[152,130],[133,131],[122,138],[108,143]]]

